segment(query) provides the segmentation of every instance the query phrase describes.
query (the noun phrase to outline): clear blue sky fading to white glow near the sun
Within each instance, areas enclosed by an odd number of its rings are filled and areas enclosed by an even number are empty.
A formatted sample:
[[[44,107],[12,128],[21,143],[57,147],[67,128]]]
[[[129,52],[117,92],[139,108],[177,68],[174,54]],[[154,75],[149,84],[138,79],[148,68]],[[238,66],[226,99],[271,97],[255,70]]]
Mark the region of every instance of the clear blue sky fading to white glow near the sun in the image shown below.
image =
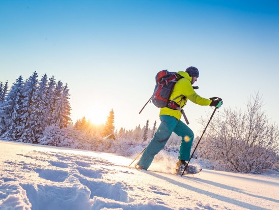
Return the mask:
[[[279,3],[277,1],[0,1],[0,81],[37,71],[68,83],[72,119],[105,121],[116,129],[150,126],[149,104],[159,70],[200,70],[205,98],[245,109],[263,95],[278,123]],[[210,107],[188,102],[190,127]]]

